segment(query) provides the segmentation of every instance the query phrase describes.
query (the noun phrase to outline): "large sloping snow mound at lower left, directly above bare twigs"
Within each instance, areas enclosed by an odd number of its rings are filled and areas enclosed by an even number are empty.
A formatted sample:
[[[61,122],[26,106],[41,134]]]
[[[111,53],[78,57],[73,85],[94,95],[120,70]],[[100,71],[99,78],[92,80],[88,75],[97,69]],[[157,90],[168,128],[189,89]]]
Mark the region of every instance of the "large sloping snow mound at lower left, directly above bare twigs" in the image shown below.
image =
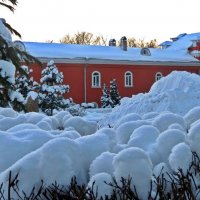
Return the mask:
[[[19,159],[1,173],[0,182],[7,183],[10,171],[12,171],[13,177],[20,172],[18,186],[26,194],[31,192],[30,185],[35,186],[37,190],[41,185],[41,180],[44,180],[47,185],[51,185],[57,181],[57,183],[67,186],[71,178],[79,174],[77,177],[78,182],[86,183],[85,174],[79,168],[79,161],[80,150],[75,141],[66,138],[54,139],[36,151]],[[30,179],[30,174],[34,178]],[[51,176],[49,176],[50,174]],[[4,186],[5,192],[7,192],[6,185]]]

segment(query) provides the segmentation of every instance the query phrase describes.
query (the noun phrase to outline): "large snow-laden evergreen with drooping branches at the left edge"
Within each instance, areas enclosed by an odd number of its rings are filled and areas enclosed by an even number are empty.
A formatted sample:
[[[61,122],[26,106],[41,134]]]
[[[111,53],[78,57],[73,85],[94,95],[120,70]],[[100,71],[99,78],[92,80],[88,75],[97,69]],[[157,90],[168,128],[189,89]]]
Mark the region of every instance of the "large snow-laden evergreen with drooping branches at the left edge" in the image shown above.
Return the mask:
[[[4,6],[14,11],[17,0],[0,0],[0,6]],[[11,106],[17,111],[24,108],[24,98],[15,90],[15,71],[24,73],[20,69],[22,61],[37,61],[33,56],[15,47],[12,42],[11,33],[21,37],[5,19],[0,18],[0,106]]]

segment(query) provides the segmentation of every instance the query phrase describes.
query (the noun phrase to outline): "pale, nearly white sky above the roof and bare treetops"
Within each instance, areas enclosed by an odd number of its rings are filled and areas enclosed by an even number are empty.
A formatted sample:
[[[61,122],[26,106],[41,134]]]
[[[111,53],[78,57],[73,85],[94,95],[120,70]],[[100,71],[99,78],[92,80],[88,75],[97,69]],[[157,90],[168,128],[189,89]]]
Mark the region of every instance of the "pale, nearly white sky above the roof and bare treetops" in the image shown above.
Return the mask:
[[[18,0],[15,13],[0,8],[25,41],[54,40],[78,31],[119,39],[169,40],[200,32],[199,0]],[[16,38],[14,38],[16,39]]]

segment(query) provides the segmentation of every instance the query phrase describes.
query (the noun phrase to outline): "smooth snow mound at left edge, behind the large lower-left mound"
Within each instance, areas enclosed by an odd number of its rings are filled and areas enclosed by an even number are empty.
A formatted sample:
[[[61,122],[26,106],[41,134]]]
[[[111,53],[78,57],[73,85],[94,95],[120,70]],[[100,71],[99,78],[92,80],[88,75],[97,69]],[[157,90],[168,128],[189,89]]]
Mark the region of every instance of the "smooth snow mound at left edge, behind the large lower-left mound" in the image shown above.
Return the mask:
[[[38,129],[19,130],[19,132],[14,132],[12,134],[1,132],[0,172],[6,170],[17,160],[38,149],[51,139],[53,139],[53,137],[48,132]]]

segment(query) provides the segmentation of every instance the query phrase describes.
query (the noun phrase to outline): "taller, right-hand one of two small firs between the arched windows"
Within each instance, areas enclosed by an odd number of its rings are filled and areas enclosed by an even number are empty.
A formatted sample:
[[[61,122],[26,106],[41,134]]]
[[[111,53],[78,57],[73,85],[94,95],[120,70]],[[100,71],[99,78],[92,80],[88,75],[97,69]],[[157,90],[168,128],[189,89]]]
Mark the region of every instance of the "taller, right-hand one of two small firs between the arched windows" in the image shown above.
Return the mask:
[[[113,102],[113,107],[115,107],[116,105],[120,105],[121,97],[119,96],[119,91],[115,79],[110,81],[110,97]]]

